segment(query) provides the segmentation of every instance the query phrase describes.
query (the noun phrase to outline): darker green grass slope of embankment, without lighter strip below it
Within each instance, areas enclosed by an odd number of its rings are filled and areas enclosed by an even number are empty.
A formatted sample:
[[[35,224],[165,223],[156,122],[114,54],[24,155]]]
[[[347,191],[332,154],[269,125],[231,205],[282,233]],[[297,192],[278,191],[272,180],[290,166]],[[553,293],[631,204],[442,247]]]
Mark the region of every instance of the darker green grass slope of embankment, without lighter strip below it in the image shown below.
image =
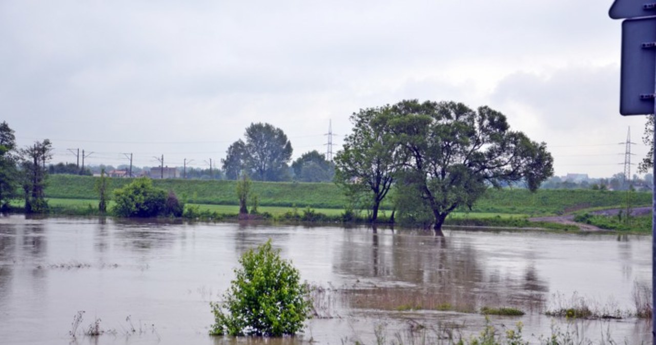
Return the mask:
[[[97,193],[94,183],[97,177],[77,175],[51,175],[46,189],[48,198],[94,200]],[[129,183],[131,179],[112,179],[110,189]],[[206,207],[236,206],[236,181],[201,181],[165,179],[153,180],[155,187],[174,191],[178,198],[189,204]],[[319,209],[337,209],[341,212],[346,205],[342,191],[333,183],[292,183],[253,181],[253,193],[258,196],[261,211],[268,207],[304,209],[307,206]],[[393,193],[382,205],[386,212],[391,210]],[[474,204],[474,213],[503,215],[552,215],[589,208],[623,207],[625,191],[592,191],[583,189],[543,189],[531,193],[525,189],[489,189]],[[88,201],[87,201],[88,203]],[[632,193],[633,206],[651,205],[650,192]],[[276,209],[272,209],[274,213]],[[459,209],[459,213],[467,211]],[[326,213],[331,211],[326,211]]]

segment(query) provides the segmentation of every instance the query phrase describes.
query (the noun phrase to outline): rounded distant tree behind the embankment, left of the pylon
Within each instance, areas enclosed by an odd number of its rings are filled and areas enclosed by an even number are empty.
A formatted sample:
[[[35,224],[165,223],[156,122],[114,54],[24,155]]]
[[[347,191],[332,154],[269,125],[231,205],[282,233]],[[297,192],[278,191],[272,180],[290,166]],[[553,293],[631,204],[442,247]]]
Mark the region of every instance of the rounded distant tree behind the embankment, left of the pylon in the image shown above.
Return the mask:
[[[280,128],[268,123],[255,123],[246,128],[245,141],[241,139],[228,147],[222,160],[226,177],[237,179],[241,170],[259,181],[289,179],[289,160],[292,147]]]

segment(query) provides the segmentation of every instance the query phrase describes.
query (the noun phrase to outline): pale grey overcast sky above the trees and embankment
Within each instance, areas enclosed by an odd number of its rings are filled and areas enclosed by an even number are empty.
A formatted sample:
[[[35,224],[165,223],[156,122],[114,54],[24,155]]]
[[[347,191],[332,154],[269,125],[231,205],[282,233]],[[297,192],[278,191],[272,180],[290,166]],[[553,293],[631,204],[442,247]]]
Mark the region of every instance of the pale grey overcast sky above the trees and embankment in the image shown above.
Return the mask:
[[[489,105],[545,141],[556,175],[623,172],[611,0],[0,1],[0,121],[86,164],[220,166],[251,122],[294,154],[403,99]],[[632,167],[632,172],[636,167]]]

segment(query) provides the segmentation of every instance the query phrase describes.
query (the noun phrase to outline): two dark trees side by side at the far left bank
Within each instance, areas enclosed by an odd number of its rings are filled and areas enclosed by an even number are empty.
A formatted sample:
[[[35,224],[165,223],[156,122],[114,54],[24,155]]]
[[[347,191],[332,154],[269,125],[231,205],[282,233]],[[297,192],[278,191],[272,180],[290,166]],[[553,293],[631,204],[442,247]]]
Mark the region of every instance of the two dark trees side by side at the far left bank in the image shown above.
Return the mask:
[[[45,200],[46,163],[52,158],[49,139],[18,149],[14,130],[7,122],[0,124],[0,208],[9,208],[10,200],[22,189],[27,213],[42,213]]]

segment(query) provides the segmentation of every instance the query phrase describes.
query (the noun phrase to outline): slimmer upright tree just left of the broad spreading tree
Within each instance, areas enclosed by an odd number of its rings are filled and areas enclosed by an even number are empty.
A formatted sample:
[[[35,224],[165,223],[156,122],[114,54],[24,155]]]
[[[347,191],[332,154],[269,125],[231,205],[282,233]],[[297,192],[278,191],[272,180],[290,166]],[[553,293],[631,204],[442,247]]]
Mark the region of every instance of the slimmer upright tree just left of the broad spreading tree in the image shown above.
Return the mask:
[[[388,126],[391,111],[386,105],[353,113],[353,132],[344,138],[344,146],[335,155],[335,182],[350,198],[368,195],[364,200],[369,200],[365,206],[371,209],[372,222],[377,221],[380,203],[404,159]]]

